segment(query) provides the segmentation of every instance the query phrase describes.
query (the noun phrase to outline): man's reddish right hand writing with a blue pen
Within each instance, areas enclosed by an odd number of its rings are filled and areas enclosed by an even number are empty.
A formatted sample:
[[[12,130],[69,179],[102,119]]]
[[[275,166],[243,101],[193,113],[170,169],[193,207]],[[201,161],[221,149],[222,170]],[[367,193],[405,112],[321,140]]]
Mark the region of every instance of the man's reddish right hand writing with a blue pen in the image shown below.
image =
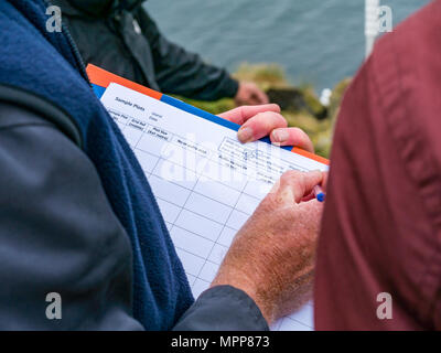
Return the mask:
[[[322,172],[286,172],[236,235],[212,287],[229,285],[251,297],[268,324],[311,298],[323,205],[302,202]]]

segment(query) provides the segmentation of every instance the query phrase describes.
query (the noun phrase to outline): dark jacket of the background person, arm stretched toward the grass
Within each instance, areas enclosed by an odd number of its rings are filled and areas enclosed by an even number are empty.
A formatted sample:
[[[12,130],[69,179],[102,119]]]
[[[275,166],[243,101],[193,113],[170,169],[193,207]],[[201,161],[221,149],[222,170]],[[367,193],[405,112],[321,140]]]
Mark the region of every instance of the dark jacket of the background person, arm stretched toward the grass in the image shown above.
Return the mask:
[[[165,94],[216,100],[238,83],[222,68],[168,41],[143,0],[53,0],[61,6],[83,60]]]

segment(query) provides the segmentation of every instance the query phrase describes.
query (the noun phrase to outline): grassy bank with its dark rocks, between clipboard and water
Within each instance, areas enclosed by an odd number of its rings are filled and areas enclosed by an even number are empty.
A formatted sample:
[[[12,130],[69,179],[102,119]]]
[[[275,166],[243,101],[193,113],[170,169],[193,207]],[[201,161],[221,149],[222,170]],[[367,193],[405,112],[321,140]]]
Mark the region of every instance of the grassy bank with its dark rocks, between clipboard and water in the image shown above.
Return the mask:
[[[300,85],[294,87],[287,81],[283,69],[278,65],[243,64],[234,76],[238,79],[252,81],[263,90],[271,93],[271,97],[281,99],[282,115],[288,120],[289,126],[303,129],[311,137],[316,153],[329,158],[334,124],[343,94],[351,82],[349,78],[335,86],[331,104],[325,110],[312,86]],[[292,98],[293,105],[283,103],[282,98],[287,95],[294,97]],[[184,100],[213,114],[219,114],[235,107],[233,99],[217,101]],[[273,100],[276,101],[276,99]]]

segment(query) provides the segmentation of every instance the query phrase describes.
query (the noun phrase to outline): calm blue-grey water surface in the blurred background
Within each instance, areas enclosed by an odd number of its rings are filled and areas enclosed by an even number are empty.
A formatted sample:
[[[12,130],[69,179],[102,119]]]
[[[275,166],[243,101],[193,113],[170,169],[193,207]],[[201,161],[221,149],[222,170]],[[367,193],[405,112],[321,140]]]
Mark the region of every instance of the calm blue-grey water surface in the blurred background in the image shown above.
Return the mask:
[[[429,0],[384,0],[398,24]],[[230,71],[279,63],[294,84],[318,92],[364,60],[364,0],[149,0],[168,38]]]

